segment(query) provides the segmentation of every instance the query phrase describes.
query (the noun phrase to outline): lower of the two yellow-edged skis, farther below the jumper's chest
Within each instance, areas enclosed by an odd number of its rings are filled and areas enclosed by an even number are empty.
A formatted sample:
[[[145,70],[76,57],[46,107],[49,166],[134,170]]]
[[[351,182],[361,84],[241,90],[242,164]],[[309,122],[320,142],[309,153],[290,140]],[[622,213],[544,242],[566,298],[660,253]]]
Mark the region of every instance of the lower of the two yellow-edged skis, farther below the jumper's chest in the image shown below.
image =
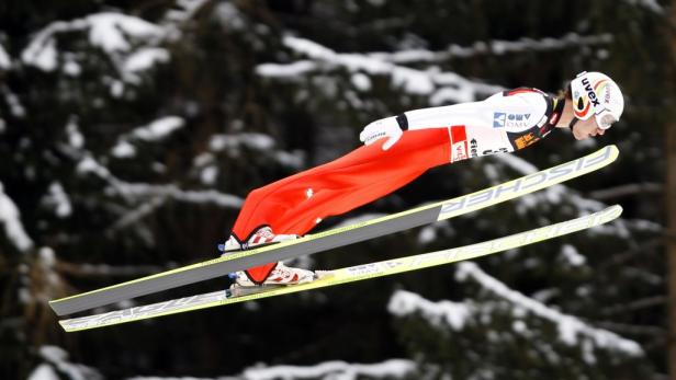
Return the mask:
[[[615,205],[581,218],[476,244],[328,270],[319,279],[312,283],[285,287],[246,289],[246,293],[241,296],[233,295],[229,289],[221,290],[101,314],[63,320],[59,323],[66,332],[76,332],[419,270],[431,266],[512,250],[582,231],[607,223],[618,218],[621,214],[622,207]]]

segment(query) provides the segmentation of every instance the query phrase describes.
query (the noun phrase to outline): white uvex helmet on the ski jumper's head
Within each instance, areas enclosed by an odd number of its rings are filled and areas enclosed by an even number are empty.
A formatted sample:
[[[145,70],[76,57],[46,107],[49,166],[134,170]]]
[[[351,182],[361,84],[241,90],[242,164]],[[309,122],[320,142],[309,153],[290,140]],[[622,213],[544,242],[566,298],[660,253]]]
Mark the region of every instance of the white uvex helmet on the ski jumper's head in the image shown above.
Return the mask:
[[[618,84],[600,72],[583,71],[571,82],[575,117],[586,120],[592,115],[601,129],[608,129],[620,119],[624,99]]]

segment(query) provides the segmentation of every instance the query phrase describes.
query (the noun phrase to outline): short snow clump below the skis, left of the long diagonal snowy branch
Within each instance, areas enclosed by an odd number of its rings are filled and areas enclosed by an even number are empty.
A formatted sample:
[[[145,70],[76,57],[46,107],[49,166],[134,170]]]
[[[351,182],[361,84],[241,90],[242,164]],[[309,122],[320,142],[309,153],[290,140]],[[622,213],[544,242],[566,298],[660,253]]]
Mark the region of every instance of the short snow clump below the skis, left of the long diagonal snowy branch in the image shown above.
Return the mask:
[[[431,324],[441,325],[443,323],[455,331],[462,330],[467,318],[472,314],[471,309],[465,303],[447,300],[432,302],[405,290],[395,291],[390,299],[387,310],[397,316],[420,313]]]

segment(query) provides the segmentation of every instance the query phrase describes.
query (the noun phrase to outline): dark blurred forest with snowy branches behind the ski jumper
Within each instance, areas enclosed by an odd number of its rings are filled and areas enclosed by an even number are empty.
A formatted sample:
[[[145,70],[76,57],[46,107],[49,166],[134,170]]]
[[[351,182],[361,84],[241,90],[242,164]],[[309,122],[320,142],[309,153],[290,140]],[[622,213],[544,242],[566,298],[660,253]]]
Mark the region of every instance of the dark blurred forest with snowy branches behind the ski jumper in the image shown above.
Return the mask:
[[[676,379],[675,22],[667,0],[2,1],[0,378]],[[606,227],[80,333],[64,333],[47,304],[215,257],[248,192],[357,148],[372,120],[521,85],[555,93],[583,70],[624,91],[605,136],[560,130],[437,168],[317,230],[609,143],[616,163],[294,264],[429,252],[621,204]]]

